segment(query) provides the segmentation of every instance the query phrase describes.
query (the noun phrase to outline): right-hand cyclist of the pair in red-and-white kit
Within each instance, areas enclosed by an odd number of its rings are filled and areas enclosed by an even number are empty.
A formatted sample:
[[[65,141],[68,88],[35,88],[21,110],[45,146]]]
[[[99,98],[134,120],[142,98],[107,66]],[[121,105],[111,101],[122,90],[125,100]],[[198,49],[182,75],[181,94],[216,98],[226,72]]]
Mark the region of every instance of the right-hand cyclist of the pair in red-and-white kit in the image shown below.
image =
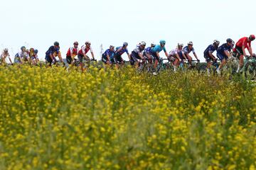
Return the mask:
[[[92,60],[95,60],[95,55],[93,53],[92,47],[91,47],[91,42],[86,41],[85,45],[82,45],[81,49],[78,51],[78,59],[80,62],[80,67],[82,69],[82,59],[85,58],[88,64],[90,64],[90,57],[88,57],[86,54],[87,52],[91,52],[92,55]]]

